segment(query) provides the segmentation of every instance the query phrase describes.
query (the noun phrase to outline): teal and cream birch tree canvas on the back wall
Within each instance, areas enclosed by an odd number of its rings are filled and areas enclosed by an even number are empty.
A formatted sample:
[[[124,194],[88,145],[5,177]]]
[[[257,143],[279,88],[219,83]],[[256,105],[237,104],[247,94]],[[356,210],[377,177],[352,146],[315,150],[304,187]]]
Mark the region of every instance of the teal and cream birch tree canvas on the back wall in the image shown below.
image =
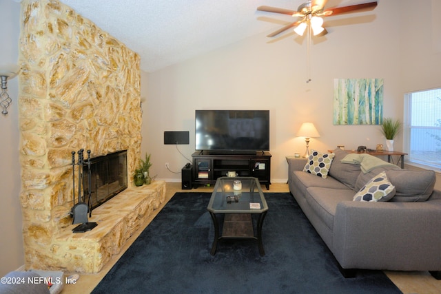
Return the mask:
[[[382,78],[334,79],[334,125],[380,125]]]

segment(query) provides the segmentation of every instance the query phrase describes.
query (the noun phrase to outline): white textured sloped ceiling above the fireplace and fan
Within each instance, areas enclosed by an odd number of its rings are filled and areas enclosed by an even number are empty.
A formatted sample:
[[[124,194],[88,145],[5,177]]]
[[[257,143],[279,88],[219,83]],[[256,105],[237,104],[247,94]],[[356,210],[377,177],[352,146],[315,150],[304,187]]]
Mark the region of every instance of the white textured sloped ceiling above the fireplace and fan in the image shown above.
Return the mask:
[[[258,6],[296,10],[302,0],[60,0],[141,56],[154,72],[198,54],[271,32],[292,17]],[[367,1],[361,1],[367,2]],[[329,0],[327,8],[360,1]]]

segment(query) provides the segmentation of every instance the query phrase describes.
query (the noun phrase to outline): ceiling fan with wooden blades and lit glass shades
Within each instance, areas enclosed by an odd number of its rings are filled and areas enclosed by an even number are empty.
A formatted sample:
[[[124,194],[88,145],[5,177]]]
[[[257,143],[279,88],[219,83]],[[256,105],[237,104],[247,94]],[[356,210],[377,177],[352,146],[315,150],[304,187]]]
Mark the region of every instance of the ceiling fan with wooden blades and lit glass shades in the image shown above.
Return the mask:
[[[296,32],[300,36],[303,35],[303,33],[307,28],[311,28],[314,36],[316,36],[317,34],[320,34],[323,31],[326,32],[325,28],[322,27],[323,24],[322,17],[330,17],[344,13],[373,10],[373,8],[376,8],[377,6],[377,1],[373,1],[373,2],[356,4],[351,6],[342,6],[337,8],[325,9],[326,3],[327,0],[309,0],[298,6],[297,10],[289,10],[285,8],[276,8],[271,6],[259,6],[257,10],[287,14],[287,15],[291,15],[292,17],[301,18],[300,20],[294,21],[293,23],[289,23],[288,25],[285,25],[283,28],[280,28],[280,30],[276,30],[276,32],[269,34],[268,35],[269,37],[276,36],[281,32],[285,32],[285,30],[288,30],[289,28],[292,27],[296,27],[294,28],[294,32]]]

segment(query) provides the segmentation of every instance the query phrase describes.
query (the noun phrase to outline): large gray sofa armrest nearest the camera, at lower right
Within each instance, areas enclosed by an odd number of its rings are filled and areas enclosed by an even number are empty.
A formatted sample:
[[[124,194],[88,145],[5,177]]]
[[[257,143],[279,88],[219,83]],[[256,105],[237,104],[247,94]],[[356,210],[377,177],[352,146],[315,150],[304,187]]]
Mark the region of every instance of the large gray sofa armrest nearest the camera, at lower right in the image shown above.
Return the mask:
[[[343,269],[441,270],[441,200],[338,203],[331,249]]]

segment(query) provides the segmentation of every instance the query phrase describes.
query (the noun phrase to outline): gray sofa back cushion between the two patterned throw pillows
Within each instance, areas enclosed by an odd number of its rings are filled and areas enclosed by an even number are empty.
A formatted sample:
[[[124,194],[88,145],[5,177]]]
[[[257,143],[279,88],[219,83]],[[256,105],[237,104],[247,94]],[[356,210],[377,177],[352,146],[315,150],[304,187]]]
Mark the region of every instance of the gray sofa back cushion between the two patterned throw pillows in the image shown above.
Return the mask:
[[[336,178],[343,184],[347,185],[347,187],[355,190],[357,178],[361,171],[360,165],[351,165],[349,163],[341,162],[341,160],[349,154],[347,151],[336,148],[333,153],[335,156],[332,160],[331,167],[329,168],[329,176]]]

